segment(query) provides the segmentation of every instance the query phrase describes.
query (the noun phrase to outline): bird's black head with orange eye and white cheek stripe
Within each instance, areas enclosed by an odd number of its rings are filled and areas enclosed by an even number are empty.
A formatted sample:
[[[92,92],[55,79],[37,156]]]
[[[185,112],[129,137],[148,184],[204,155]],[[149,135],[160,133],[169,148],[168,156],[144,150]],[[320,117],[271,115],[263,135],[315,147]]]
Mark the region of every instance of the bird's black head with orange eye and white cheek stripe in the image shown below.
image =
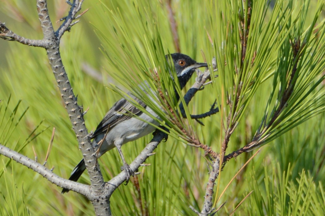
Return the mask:
[[[196,68],[208,66],[206,63],[197,63],[191,57],[182,53],[172,53],[170,57],[174,63],[175,72],[181,88],[186,85]],[[169,61],[168,55],[166,55],[166,59]]]

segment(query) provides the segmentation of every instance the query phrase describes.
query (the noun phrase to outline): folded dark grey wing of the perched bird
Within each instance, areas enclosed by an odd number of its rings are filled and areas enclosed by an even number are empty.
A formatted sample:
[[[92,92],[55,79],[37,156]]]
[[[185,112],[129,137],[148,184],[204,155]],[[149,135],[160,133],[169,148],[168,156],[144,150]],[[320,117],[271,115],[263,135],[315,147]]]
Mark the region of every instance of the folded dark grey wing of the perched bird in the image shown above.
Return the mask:
[[[138,98],[129,94],[137,103],[139,103],[143,108],[146,108],[146,105]],[[92,134],[91,138],[96,137],[98,134],[106,133],[107,129],[110,131],[115,125],[124,121],[126,119],[132,118],[132,115],[140,115],[142,112],[133,106],[125,98],[117,101],[112,108],[106,113],[103,120],[98,124],[96,131]]]

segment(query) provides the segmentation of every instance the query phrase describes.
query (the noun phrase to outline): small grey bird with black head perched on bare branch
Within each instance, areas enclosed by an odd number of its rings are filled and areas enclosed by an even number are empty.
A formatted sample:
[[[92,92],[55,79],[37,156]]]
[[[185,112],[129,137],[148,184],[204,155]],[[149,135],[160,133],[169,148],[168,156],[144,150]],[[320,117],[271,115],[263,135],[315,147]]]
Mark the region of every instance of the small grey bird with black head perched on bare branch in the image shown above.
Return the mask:
[[[177,75],[176,78],[178,79],[181,89],[185,87],[197,68],[208,66],[206,63],[197,63],[188,55],[182,53],[168,54],[165,55],[165,58],[167,61],[169,61],[169,59],[172,60]],[[175,82],[175,79],[170,71],[169,74],[172,80]],[[148,84],[147,86],[149,87]],[[148,95],[148,93],[146,94]],[[155,118],[160,119],[160,117],[139,98],[135,97],[131,93],[128,93],[127,95],[145,108]],[[177,92],[176,97],[178,101],[179,96]],[[149,98],[152,99],[151,97]],[[130,113],[133,116],[136,115],[138,118],[133,118]],[[152,125],[148,122],[150,122]],[[158,126],[159,123],[149,117],[147,114],[140,111],[140,109],[136,108],[127,99],[121,98],[106,113],[102,121],[98,124],[96,130],[90,134],[90,138],[93,139],[92,146],[98,151],[98,158],[114,147],[117,148],[123,161],[123,168],[127,176],[127,183],[131,175],[133,176],[134,174],[125,161],[121,146],[127,142],[137,140],[148,135],[149,133],[152,133],[156,129],[153,125]],[[85,169],[85,161],[82,159],[72,170],[69,180],[77,181]],[[68,189],[63,188],[61,193],[63,194],[68,191]]]

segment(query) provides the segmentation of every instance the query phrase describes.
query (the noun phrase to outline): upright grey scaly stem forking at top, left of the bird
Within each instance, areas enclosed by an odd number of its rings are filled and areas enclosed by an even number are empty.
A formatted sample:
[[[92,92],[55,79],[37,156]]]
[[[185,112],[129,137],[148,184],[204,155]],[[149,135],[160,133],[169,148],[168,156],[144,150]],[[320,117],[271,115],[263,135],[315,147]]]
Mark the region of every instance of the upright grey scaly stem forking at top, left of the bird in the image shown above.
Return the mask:
[[[53,74],[57,81],[62,100],[66,105],[66,109],[69,114],[70,121],[72,123],[72,129],[76,134],[79,147],[83,153],[85,165],[87,167],[90,181],[91,181],[91,196],[90,200],[94,205],[96,214],[107,214],[109,208],[109,200],[107,198],[107,194],[103,194],[103,188],[105,186],[105,182],[103,176],[101,175],[99,166],[96,165],[96,153],[93,149],[90,138],[88,136],[87,128],[85,127],[85,120],[82,112],[82,107],[80,107],[77,103],[77,98],[75,97],[72,86],[68,79],[68,75],[65,71],[63,66],[60,51],[59,51],[59,44],[60,44],[60,37],[62,36],[63,32],[68,29],[75,17],[77,11],[81,9],[81,4],[83,1],[73,1],[72,8],[69,12],[69,16],[66,18],[65,22],[62,26],[58,29],[57,32],[54,32],[51,20],[48,15],[47,4],[45,0],[38,0],[37,1],[37,11],[38,17],[41,23],[41,27],[44,34],[44,39],[50,41],[50,47],[46,49],[47,57],[49,59],[50,65],[53,70]],[[69,190],[75,191],[75,188],[66,187]],[[96,199],[97,195],[97,199]],[[101,197],[101,202],[98,201],[98,197]]]

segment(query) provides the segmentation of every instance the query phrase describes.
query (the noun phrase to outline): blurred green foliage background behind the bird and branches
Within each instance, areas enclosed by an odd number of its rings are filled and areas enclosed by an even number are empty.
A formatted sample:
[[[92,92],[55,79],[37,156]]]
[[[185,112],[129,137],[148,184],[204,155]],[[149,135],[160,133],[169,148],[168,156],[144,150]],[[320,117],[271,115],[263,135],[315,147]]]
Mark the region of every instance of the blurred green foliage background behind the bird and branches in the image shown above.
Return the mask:
[[[127,52],[128,46],[136,46],[141,55],[147,57],[146,42],[152,41],[144,39],[148,38],[146,34],[155,34],[153,28],[150,28],[152,20],[157,21],[155,24],[158,25],[164,52],[175,52],[167,2],[85,1],[82,10],[89,8],[89,11],[62,37],[61,57],[74,93],[78,95],[79,104],[84,109],[89,107],[85,115],[89,131],[96,128],[106,111],[120,98],[106,86],[113,83],[124,89],[123,84],[114,79],[116,75],[112,75],[123,73],[123,70],[117,71],[112,62],[118,61],[119,65],[125,63],[125,68],[139,73],[139,66],[135,62],[135,56],[139,54]],[[26,38],[42,39],[34,2],[1,0],[0,3],[0,21],[5,22],[9,29]],[[144,12],[141,13],[141,18],[148,23],[140,23],[140,15],[136,13],[137,9],[133,4],[141,8],[141,12]],[[207,32],[213,27],[207,16],[208,6],[208,1],[172,1],[178,24],[180,50],[198,62],[204,61],[201,50],[206,52],[206,47],[211,46]],[[311,1],[311,13],[314,7],[316,1]],[[60,23],[56,21],[67,15],[69,6],[64,0],[58,0],[48,1],[48,8],[57,29]],[[321,16],[324,17],[324,11]],[[118,17],[123,18],[122,29],[128,32],[127,37],[132,36],[129,38],[132,43],[126,40],[123,44],[123,31],[114,27],[120,23],[116,20]],[[149,26],[148,31],[143,32],[145,28],[140,26]],[[0,124],[1,144],[17,150],[29,142],[20,152],[33,159],[33,146],[38,161],[43,163],[52,129],[55,127],[53,148],[46,166],[54,167],[56,174],[68,178],[82,155],[45,50],[5,40],[0,40],[0,50],[0,121],[3,122]],[[89,75],[94,73],[96,77]],[[193,76],[188,87],[194,80]],[[263,114],[271,84],[272,81],[266,81],[265,87],[256,93],[231,137],[228,153],[252,139]],[[193,98],[189,110],[195,114],[208,110],[215,100],[214,94],[210,92],[213,92],[213,88],[208,85]],[[22,101],[16,111],[15,107],[20,99]],[[27,112],[16,125],[27,108]],[[229,214],[251,190],[254,190],[252,195],[236,210],[235,215],[285,215],[290,212],[295,215],[294,212],[299,211],[306,212],[307,215],[325,213],[325,194],[321,185],[325,179],[324,117],[325,114],[321,113],[264,146],[227,188],[223,198],[217,203],[218,207],[227,201],[218,215]],[[203,123],[204,127],[195,124],[200,141],[218,151],[220,115],[203,119]],[[35,128],[37,129],[34,131]],[[42,133],[38,135],[40,132]],[[151,135],[148,135],[123,146],[129,163],[150,139]],[[208,178],[204,152],[173,138],[161,143],[155,152],[146,161],[150,166],[140,168],[140,175],[114,192],[110,199],[113,215],[195,215],[188,206],[201,209]],[[219,176],[220,190],[226,187],[251,155],[252,153],[242,154],[226,164]],[[91,203],[81,195],[73,192],[61,195],[61,188],[32,170],[15,162],[10,163],[4,156],[0,156],[0,161],[0,205],[3,207],[0,215],[94,214]],[[120,172],[120,157],[115,149],[102,156],[99,163],[105,180]],[[286,173],[284,180],[283,172]],[[86,173],[80,182],[89,183]],[[299,187],[303,191],[301,193],[305,194],[305,199],[309,200],[309,206],[304,205],[304,198],[294,197]],[[316,204],[320,206],[315,207]],[[299,210],[295,209],[298,207]],[[286,210],[285,213],[281,211],[283,209]]]

